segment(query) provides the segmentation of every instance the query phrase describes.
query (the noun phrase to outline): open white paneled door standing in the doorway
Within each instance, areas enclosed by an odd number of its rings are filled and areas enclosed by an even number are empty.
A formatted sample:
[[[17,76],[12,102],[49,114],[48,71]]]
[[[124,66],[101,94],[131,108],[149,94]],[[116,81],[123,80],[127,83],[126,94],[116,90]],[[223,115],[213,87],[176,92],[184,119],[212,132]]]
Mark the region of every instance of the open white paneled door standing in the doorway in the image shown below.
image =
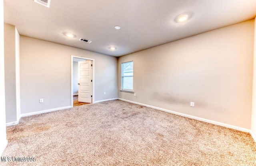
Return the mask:
[[[92,61],[78,62],[78,102],[92,103]]]

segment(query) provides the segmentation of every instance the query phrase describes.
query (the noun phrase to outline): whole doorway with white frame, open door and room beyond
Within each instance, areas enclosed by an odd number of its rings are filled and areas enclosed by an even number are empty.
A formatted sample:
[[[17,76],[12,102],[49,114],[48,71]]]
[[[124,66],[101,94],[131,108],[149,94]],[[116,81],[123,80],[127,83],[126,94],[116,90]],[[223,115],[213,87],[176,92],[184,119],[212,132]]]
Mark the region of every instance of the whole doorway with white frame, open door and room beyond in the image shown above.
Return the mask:
[[[71,55],[71,107],[86,103],[94,103],[94,59]]]

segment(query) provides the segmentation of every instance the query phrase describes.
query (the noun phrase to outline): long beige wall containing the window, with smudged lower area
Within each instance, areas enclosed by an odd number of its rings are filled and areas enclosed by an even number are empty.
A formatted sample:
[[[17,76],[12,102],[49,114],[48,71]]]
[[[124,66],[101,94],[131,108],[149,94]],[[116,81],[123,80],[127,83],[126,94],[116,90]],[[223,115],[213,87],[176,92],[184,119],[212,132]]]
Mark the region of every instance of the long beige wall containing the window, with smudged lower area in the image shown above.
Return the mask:
[[[122,56],[118,98],[250,129],[253,45],[250,20]],[[119,91],[128,61],[136,96]]]

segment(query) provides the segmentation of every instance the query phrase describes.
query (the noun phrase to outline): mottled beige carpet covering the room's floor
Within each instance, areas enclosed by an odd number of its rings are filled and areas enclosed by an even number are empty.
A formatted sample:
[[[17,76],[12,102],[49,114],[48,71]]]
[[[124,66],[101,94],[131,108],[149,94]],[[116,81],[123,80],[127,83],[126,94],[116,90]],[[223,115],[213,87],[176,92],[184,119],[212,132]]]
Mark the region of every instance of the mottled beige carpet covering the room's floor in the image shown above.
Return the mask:
[[[23,117],[7,127],[16,166],[255,166],[248,133],[120,100]],[[6,158],[7,160],[7,158]]]

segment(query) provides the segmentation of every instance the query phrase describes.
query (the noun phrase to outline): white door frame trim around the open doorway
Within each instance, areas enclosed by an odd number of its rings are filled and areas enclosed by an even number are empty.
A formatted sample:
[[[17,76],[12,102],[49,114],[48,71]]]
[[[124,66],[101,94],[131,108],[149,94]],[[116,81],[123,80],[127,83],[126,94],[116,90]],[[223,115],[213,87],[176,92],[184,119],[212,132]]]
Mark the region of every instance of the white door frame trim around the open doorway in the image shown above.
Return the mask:
[[[71,107],[73,108],[73,58],[86,59],[92,61],[92,104],[94,103],[94,64],[95,59],[86,58],[86,57],[78,57],[71,55]]]

